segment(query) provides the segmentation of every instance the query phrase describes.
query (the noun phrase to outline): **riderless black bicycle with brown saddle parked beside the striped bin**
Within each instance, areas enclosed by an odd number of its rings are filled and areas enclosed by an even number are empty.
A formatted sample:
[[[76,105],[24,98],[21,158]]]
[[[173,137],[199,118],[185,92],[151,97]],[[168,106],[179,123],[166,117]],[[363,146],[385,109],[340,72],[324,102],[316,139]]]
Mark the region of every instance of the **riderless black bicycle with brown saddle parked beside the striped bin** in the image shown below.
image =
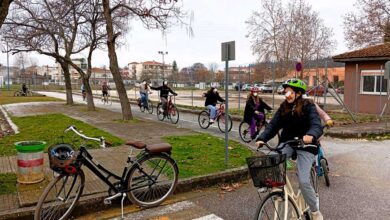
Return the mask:
[[[105,204],[111,204],[121,198],[122,219],[123,202],[127,196],[131,202],[142,207],[154,207],[162,203],[176,188],[178,167],[171,158],[171,145],[146,145],[142,142],[128,142],[134,148],[142,150],[136,157],[133,148],[127,158],[122,176],[117,176],[100,164],[85,148],[85,141],[92,140],[106,147],[103,137],[88,137],[74,126],[65,132],[73,131],[83,140],[76,154],[69,144],[59,144],[49,149],[50,167],[55,171],[54,179],[49,183],[38,200],[35,220],[67,219],[83,194],[85,165],[108,186]]]

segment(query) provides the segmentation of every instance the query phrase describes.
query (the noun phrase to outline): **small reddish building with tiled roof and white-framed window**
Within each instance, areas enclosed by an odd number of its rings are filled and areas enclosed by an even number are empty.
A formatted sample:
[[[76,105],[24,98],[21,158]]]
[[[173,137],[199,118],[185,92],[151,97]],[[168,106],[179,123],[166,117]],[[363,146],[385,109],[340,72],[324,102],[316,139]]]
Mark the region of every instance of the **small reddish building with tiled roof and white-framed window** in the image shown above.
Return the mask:
[[[390,113],[389,80],[384,79],[386,61],[390,61],[390,43],[363,48],[333,57],[345,63],[344,102],[353,112]]]

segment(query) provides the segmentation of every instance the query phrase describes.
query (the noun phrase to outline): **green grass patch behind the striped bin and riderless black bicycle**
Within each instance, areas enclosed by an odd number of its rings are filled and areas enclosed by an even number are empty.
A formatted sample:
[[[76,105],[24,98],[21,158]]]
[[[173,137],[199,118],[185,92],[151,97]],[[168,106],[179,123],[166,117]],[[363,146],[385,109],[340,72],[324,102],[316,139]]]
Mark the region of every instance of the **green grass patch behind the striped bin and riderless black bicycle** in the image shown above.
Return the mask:
[[[79,149],[80,138],[73,132],[64,134],[64,130],[69,125],[75,125],[77,129],[90,137],[103,136],[113,146],[118,146],[123,143],[123,140],[118,137],[63,114],[12,117],[12,121],[19,127],[20,133],[0,139],[0,156],[15,155],[16,149],[14,143],[27,140],[46,141],[46,149],[53,144],[61,142],[74,144],[75,149]],[[99,144],[89,141],[86,147],[99,148]]]

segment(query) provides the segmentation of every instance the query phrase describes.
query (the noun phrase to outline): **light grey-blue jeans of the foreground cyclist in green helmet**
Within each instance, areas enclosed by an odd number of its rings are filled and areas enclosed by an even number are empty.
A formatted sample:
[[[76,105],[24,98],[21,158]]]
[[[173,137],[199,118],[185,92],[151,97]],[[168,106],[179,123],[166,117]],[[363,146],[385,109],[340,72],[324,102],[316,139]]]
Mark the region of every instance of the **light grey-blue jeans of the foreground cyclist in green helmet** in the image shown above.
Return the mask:
[[[296,150],[296,152],[299,188],[310,210],[316,212],[319,210],[319,204],[317,204],[316,192],[310,182],[310,171],[315,155],[302,150]],[[291,158],[294,150],[290,146],[286,146],[282,153],[286,154],[287,158]]]

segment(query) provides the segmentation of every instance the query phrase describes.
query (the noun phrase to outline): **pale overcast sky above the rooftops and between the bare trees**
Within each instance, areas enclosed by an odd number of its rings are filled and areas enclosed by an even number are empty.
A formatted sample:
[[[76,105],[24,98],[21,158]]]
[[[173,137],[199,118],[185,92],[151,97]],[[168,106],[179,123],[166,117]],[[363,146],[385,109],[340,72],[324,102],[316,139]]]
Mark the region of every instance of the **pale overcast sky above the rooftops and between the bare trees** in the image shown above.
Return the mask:
[[[284,3],[286,0],[282,0]],[[333,55],[348,51],[344,41],[343,16],[353,8],[356,0],[307,0],[313,10],[319,12],[327,27],[334,32],[337,48]],[[260,9],[260,0],[184,0],[184,8],[194,13],[194,37],[189,37],[184,27],[175,27],[164,37],[160,31],[146,30],[138,21],[130,23],[131,31],[126,36],[127,45],[117,51],[120,67],[129,62],[155,60],[162,62],[158,51],[167,51],[165,63],[176,60],[179,68],[201,62],[221,62],[221,43],[235,41],[236,60],[229,66],[246,65],[255,62],[250,41],[245,37],[247,27],[245,21],[254,10]],[[86,56],[86,53],[85,55]],[[39,65],[52,65],[54,62],[47,57],[38,56]],[[6,64],[6,55],[0,55],[0,63]],[[13,65],[13,59],[10,59]],[[95,53],[93,66],[108,66],[108,55],[105,51]]]

